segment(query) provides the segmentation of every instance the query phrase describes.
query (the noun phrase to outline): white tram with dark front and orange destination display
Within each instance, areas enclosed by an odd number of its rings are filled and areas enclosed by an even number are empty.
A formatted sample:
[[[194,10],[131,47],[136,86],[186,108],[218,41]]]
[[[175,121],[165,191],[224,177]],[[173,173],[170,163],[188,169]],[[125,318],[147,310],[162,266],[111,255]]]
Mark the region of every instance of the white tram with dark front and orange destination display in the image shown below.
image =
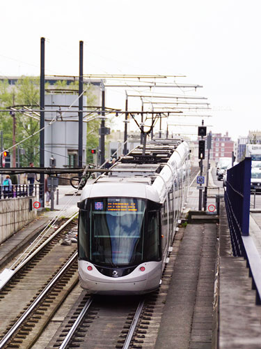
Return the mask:
[[[159,287],[187,198],[189,158],[187,142],[153,140],[145,155],[136,147],[86,184],[78,203],[82,288],[131,295]]]

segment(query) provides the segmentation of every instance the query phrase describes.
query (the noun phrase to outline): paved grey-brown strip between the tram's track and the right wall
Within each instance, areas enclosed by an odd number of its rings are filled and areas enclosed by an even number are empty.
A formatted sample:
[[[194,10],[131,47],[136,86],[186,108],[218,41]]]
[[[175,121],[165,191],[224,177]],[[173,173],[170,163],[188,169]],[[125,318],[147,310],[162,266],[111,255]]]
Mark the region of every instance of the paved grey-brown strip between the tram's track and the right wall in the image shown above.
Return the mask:
[[[187,225],[156,349],[212,348],[216,231],[216,224]]]

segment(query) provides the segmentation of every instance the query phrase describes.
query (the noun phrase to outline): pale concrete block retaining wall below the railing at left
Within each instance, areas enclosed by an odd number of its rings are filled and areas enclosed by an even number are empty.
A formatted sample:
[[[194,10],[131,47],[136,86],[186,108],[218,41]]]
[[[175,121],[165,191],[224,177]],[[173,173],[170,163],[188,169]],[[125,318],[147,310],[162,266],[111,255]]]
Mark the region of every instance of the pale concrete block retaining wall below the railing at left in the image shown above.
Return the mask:
[[[37,209],[29,209],[30,201],[33,204],[34,199],[30,197],[0,200],[0,243],[36,218]]]

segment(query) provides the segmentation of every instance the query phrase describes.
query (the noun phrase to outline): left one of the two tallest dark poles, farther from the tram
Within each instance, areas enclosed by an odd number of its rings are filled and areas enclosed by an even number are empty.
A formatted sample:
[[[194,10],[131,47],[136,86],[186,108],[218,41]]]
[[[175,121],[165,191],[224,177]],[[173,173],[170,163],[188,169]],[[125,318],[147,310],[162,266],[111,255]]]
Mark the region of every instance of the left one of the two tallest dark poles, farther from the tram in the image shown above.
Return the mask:
[[[40,47],[40,168],[45,167],[45,38]],[[40,207],[45,207],[45,174],[40,174]]]

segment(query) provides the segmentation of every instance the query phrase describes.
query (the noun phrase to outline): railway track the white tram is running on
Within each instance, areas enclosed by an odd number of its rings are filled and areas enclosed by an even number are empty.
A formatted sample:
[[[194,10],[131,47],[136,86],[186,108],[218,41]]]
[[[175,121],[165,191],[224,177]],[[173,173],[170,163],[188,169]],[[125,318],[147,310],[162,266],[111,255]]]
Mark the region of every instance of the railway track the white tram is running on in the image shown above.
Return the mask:
[[[183,233],[181,228],[175,235],[159,290],[142,297],[92,296],[82,291],[45,348],[153,348]]]

